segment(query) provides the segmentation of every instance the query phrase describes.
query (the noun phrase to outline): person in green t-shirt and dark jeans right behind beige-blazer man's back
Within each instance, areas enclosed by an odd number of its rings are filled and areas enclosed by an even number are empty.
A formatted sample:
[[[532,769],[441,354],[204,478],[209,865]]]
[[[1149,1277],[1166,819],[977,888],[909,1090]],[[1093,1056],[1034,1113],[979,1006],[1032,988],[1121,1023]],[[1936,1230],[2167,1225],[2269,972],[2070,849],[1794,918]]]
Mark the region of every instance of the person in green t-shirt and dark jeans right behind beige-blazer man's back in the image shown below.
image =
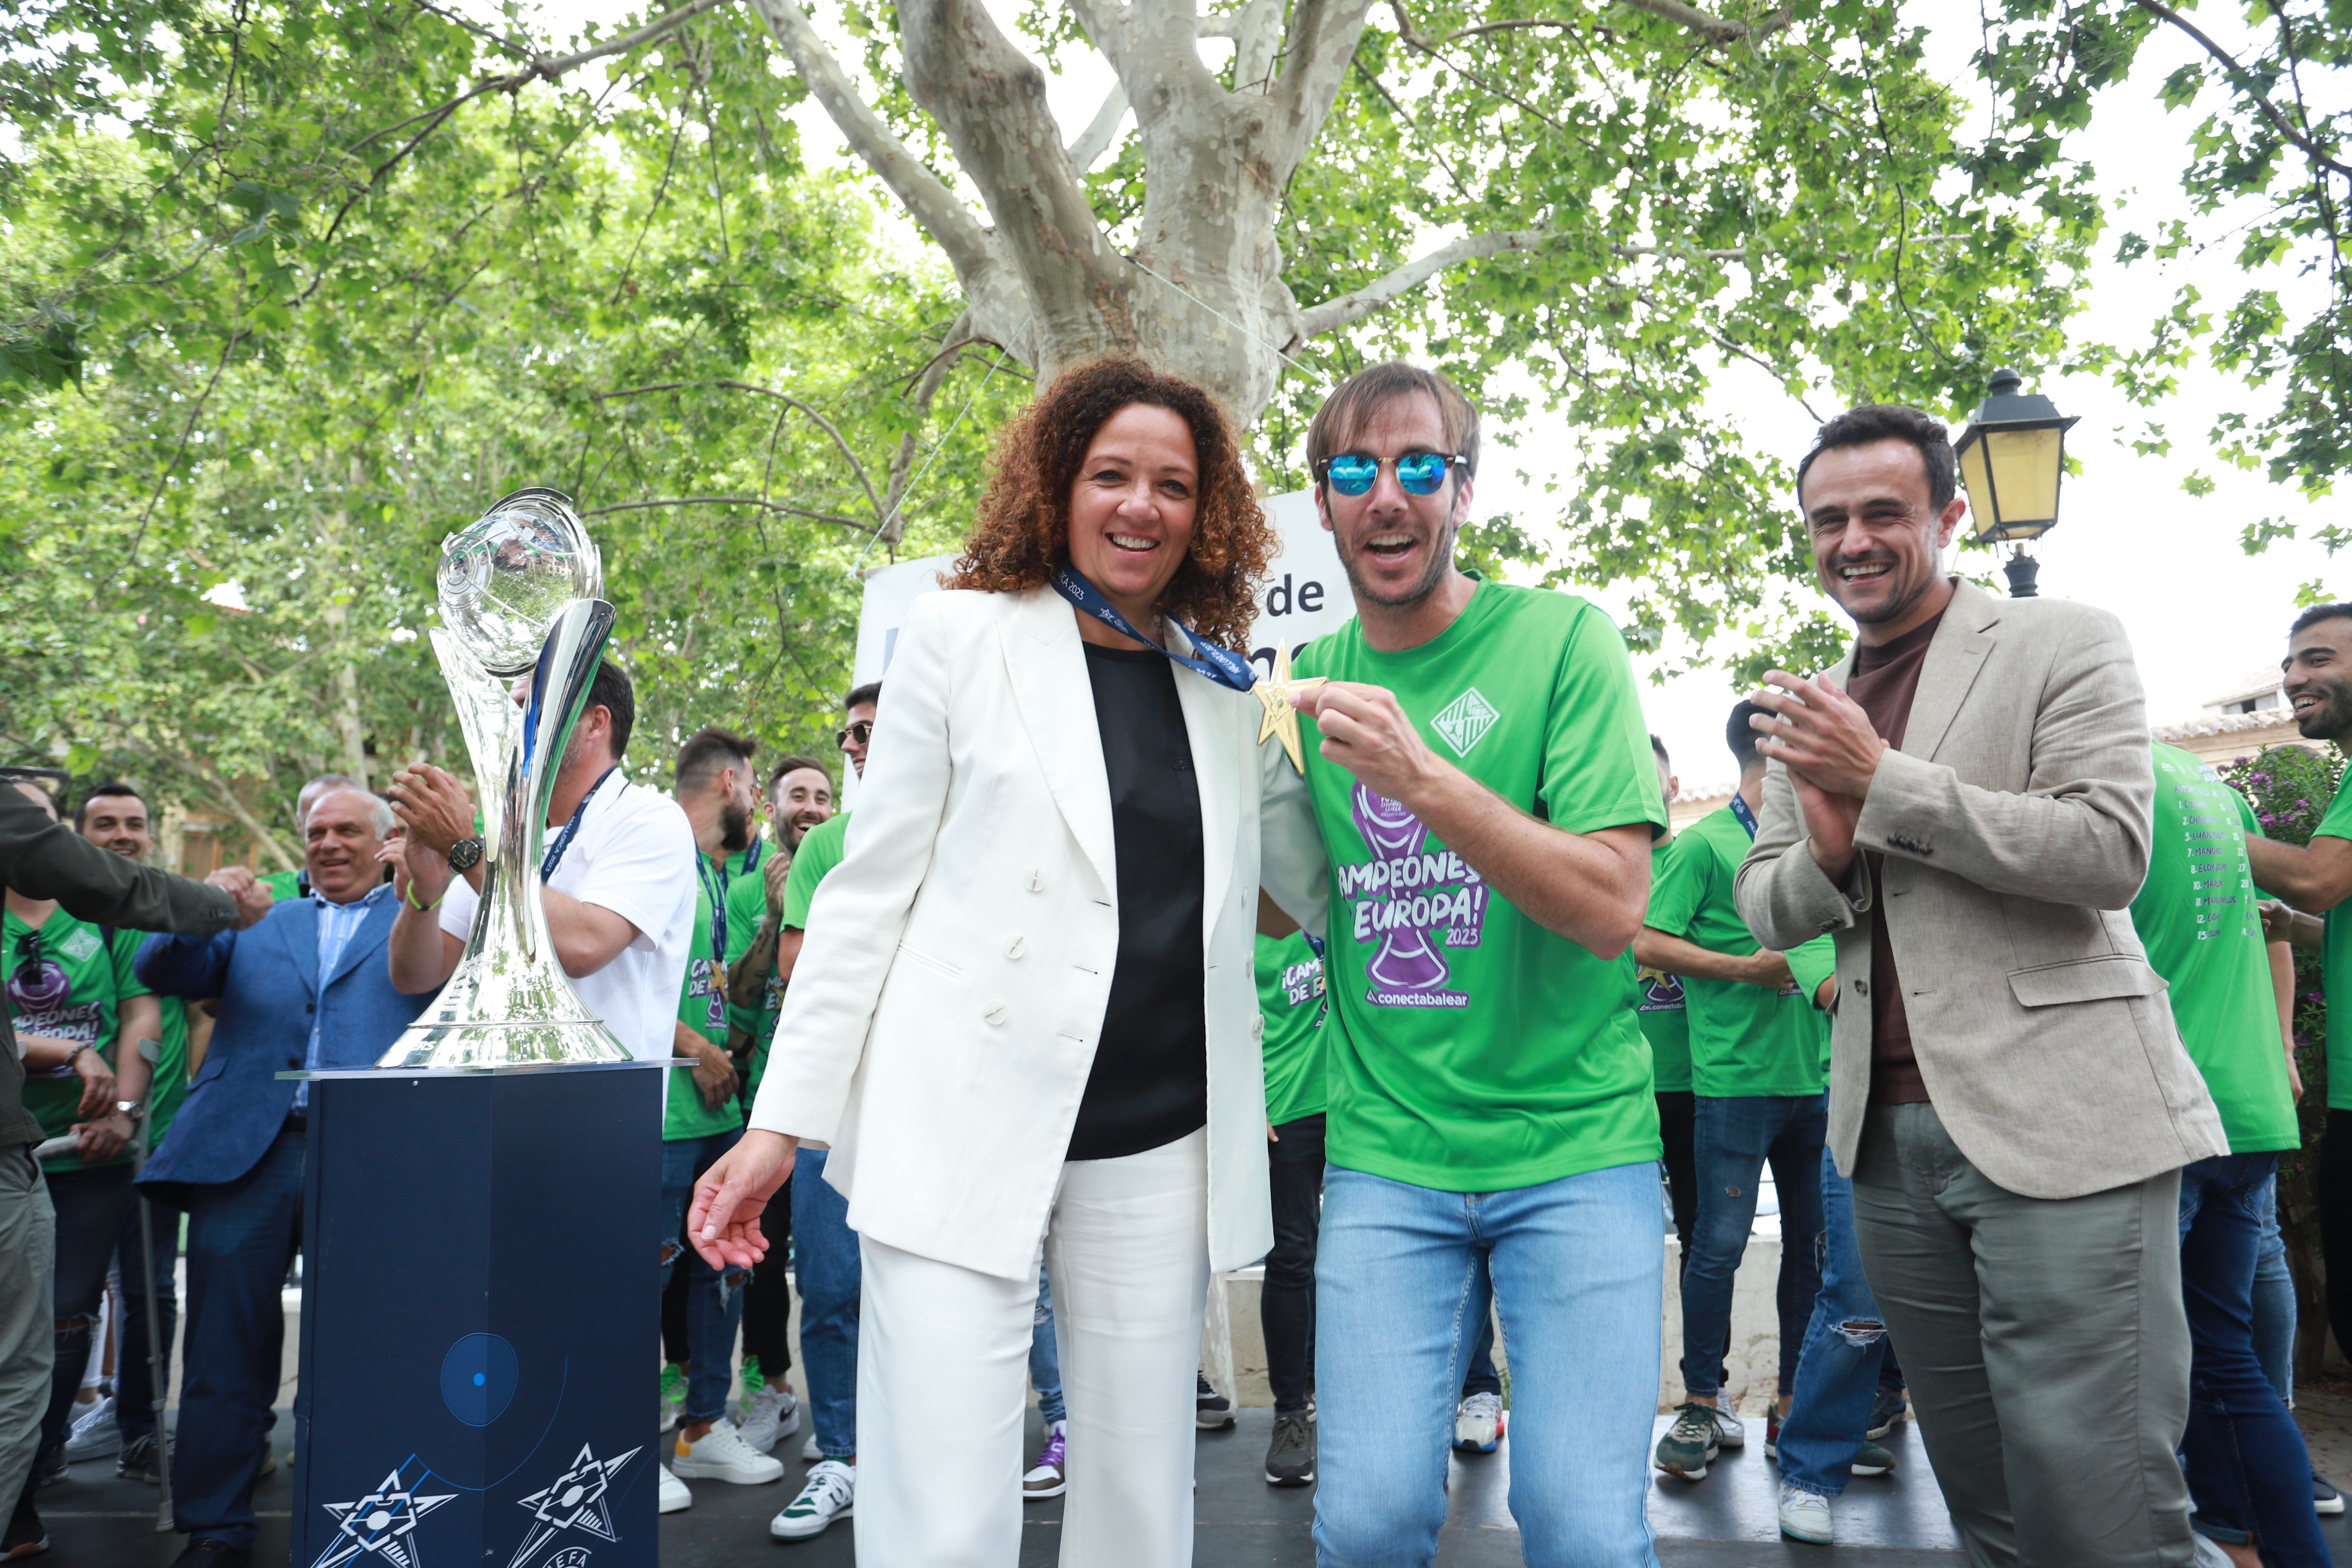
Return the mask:
[[[2300,1147],[2291,1063],[2293,969],[2272,954],[2246,853],[2263,837],[2246,797],[2201,759],[2154,745],[2147,882],[2131,924],[2171,987],[2180,1044],[2204,1074],[2227,1154],[2180,1171],[2180,1293],[2190,1314],[2190,1401],[2180,1453],[2199,1533],[2253,1559],[2324,1563],[2312,1460],[2263,1373],[2253,1274],[2263,1197],[2279,1152]],[[2284,987],[2279,985],[2284,973]]]

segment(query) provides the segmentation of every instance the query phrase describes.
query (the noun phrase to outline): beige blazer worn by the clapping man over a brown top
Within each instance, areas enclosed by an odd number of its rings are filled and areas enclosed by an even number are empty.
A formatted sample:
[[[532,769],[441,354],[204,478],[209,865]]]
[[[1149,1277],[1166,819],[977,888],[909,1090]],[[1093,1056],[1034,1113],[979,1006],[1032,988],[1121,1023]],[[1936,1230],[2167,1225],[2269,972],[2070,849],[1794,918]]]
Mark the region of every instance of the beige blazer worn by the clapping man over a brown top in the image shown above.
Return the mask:
[[[1853,651],[1835,675],[1844,684]],[[1959,1152],[2037,1199],[2227,1154],[2129,905],[2154,776],[2124,628],[1962,581],[1903,748],[1863,802],[1844,886],[1813,860],[1788,769],[1764,776],[1740,919],[1766,947],[1837,938],[1830,1150],[1851,1173],[1870,1103],[1870,900],[1886,900],[1919,1077]]]

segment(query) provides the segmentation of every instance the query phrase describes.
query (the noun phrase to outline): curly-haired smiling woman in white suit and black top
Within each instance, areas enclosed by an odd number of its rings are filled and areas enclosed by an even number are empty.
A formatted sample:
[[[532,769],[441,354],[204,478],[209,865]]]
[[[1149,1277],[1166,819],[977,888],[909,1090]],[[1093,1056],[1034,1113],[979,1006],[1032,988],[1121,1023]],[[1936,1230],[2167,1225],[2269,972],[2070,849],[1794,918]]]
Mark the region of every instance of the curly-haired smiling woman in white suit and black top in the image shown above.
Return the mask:
[[[1018,1559],[1040,1248],[1061,1561],[1192,1561],[1209,1269],[1272,1244],[1258,705],[1225,651],[1270,550],[1214,400],[1096,360],[1004,433],[950,592],[898,635],[750,1131],[689,1215],[703,1255],[750,1265],[795,1145],[833,1145],[868,1568]]]

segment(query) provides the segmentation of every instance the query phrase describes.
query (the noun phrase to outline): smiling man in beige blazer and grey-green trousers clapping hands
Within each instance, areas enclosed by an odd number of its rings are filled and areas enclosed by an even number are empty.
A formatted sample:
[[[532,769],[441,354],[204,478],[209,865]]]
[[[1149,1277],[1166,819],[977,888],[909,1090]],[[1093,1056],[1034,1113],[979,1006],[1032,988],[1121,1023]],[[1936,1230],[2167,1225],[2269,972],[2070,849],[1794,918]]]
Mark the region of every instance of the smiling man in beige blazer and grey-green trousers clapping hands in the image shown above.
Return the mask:
[[[1830,1150],[1969,1561],[2187,1568],[2178,1173],[2230,1145],[2126,912],[2140,677],[2114,616],[1945,574],[1955,468],[1865,404],[1797,470],[1856,646],[1755,698],[1738,910],[1837,938]]]

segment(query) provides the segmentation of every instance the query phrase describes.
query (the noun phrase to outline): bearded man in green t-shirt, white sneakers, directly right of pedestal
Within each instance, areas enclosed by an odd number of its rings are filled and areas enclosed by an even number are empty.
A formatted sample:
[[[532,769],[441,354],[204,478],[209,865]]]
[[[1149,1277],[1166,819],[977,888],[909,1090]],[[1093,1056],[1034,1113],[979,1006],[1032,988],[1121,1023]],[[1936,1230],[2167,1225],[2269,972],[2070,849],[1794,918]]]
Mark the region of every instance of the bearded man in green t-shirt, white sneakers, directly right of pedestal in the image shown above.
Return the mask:
[[[729,863],[750,849],[755,806],[755,743],[727,729],[699,729],[677,748],[675,799],[694,827],[694,938],[677,997],[677,1056],[691,1067],[670,1070],[661,1124],[661,1199],[668,1229],[661,1284],[668,1288],[680,1253],[687,1265],[684,1403],[670,1472],[680,1479],[762,1486],[783,1465],[750,1443],[727,1420],[734,1385],[734,1335],[743,1309],[743,1272],[713,1269],[673,1232],[684,1222],[694,1178],[743,1135],[736,1103],[741,1077],[727,1058],[727,917]]]

